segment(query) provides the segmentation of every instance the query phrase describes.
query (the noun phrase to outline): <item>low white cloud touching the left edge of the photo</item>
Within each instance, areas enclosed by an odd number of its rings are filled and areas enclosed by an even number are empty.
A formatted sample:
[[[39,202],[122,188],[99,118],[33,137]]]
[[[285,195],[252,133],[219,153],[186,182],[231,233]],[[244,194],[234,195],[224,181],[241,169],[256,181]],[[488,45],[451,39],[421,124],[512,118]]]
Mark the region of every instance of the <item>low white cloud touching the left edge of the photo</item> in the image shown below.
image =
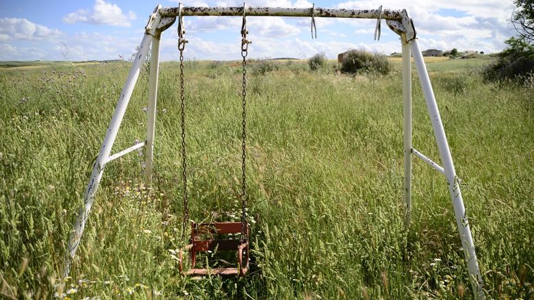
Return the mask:
[[[0,40],[47,40],[64,34],[59,29],[32,23],[25,18],[0,18]]]

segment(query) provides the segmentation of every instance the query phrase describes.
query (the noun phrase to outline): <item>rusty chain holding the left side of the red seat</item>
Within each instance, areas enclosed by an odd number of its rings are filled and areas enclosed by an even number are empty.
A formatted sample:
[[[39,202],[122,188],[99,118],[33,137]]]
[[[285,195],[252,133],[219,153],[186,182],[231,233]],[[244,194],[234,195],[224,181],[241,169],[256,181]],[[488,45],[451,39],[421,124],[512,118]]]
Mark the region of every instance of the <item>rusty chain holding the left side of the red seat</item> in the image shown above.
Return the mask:
[[[181,107],[181,174],[183,177],[183,223],[181,231],[181,240],[186,240],[186,226],[189,221],[189,202],[188,202],[188,176],[186,171],[186,105],[183,101],[183,49],[186,48],[187,40],[181,39],[178,44],[180,51],[180,107]]]

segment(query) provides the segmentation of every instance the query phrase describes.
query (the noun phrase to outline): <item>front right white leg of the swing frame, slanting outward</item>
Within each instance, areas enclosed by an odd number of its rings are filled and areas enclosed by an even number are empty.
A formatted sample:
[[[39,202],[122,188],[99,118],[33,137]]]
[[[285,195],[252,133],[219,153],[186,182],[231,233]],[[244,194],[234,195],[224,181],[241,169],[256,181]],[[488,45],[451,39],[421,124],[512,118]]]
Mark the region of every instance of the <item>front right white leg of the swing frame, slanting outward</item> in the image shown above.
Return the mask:
[[[466,256],[468,264],[471,286],[476,298],[485,299],[485,295],[482,290],[482,276],[480,273],[479,264],[476,260],[476,253],[474,251],[474,244],[471,237],[471,229],[469,227],[468,218],[466,217],[466,208],[463,206],[463,199],[461,197],[458,177],[456,176],[453,158],[450,155],[450,149],[445,136],[442,118],[439,110],[437,110],[437,103],[435,101],[434,92],[430,83],[429,74],[427,73],[427,67],[424,65],[424,60],[417,40],[410,40],[409,44],[414,55],[414,61],[416,62],[419,80],[424,93],[424,99],[427,101],[427,109],[429,110],[429,116],[437,141],[437,148],[440,151],[440,157],[442,158],[445,176],[447,177],[448,191],[450,193],[450,199],[453,201],[456,223],[461,238],[461,245],[463,246],[463,254]]]

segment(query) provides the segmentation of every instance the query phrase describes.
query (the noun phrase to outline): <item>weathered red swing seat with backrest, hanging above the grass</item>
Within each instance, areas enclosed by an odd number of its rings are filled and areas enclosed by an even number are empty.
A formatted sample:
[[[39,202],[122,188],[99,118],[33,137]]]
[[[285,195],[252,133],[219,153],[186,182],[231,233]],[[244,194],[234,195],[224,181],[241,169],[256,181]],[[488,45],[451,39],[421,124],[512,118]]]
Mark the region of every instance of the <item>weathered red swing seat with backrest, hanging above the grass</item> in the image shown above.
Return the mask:
[[[179,271],[187,276],[207,276],[221,275],[244,276],[249,271],[249,241],[241,240],[214,240],[218,234],[240,234],[241,222],[224,223],[191,223],[191,244],[185,249],[189,251],[191,268],[183,273],[181,260],[179,261]],[[246,236],[249,236],[249,223],[245,223]],[[209,239],[200,239],[199,236],[209,236]],[[196,253],[200,251],[238,251],[238,268],[195,268]],[[243,255],[244,252],[244,255]],[[181,256],[181,253],[180,253]],[[244,256],[244,258],[243,258]]]

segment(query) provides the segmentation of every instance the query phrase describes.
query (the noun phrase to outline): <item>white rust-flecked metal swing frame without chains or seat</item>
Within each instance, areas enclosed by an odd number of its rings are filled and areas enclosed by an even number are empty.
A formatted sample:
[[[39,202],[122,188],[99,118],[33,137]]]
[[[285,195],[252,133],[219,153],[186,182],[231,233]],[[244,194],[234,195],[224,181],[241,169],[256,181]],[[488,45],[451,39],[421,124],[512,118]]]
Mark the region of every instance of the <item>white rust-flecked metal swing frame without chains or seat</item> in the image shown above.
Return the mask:
[[[75,227],[71,234],[68,243],[68,251],[66,253],[66,264],[64,268],[64,275],[67,276],[71,260],[73,260],[77,247],[79,245],[81,234],[84,231],[86,220],[90,212],[94,194],[97,192],[99,182],[103,175],[104,166],[108,162],[119,158],[141,147],[146,149],[146,174],[147,181],[151,181],[151,172],[153,166],[153,142],[155,132],[155,112],[157,100],[157,82],[158,71],[160,65],[160,38],[164,30],[168,29],[179,18],[183,16],[307,16],[312,17],[312,37],[315,25],[315,17],[330,17],[330,18],[372,18],[377,19],[377,27],[374,32],[374,37],[380,38],[381,19],[385,19],[388,27],[396,34],[401,36],[401,43],[403,48],[403,118],[404,118],[404,201],[405,201],[405,226],[409,227],[409,219],[411,214],[411,157],[412,154],[427,162],[430,166],[435,168],[440,173],[444,174],[447,179],[450,199],[453,202],[453,208],[456,216],[456,223],[463,246],[463,253],[465,255],[469,277],[476,299],[485,299],[483,292],[483,282],[481,272],[479,270],[478,262],[476,260],[476,253],[472,241],[471,230],[466,217],[466,209],[463,205],[461,197],[459,179],[456,175],[453,158],[450,154],[447,138],[440,116],[437,109],[434,92],[431,86],[427,68],[424,64],[422,53],[420,51],[418,42],[416,40],[416,29],[411,17],[406,10],[346,10],[346,9],[331,9],[331,8],[268,8],[268,7],[212,7],[212,8],[194,8],[183,7],[181,3],[178,7],[164,8],[158,5],[153,14],[149,18],[149,23],[145,28],[145,34],[133,61],[133,65],[127,77],[126,84],[118,99],[118,103],[113,114],[110,126],[107,129],[105,138],[103,140],[97,160],[94,162],[92,174],[89,184],[84,192],[84,207],[80,209],[79,216],[75,223]],[[180,24],[182,27],[183,24]],[[183,28],[182,28],[183,29]],[[147,140],[139,142],[133,147],[129,147],[114,155],[110,155],[114,141],[123,120],[125,110],[127,108],[133,87],[135,86],[142,63],[146,57],[150,45],[151,48],[151,69],[149,79],[149,99],[148,99],[148,121],[147,121]],[[424,93],[424,99],[427,103],[427,110],[431,118],[433,132],[437,142],[437,148],[440,152],[440,158],[443,166],[439,166],[431,159],[414,149],[411,145],[412,126],[411,126],[411,55],[413,55],[414,62]]]

